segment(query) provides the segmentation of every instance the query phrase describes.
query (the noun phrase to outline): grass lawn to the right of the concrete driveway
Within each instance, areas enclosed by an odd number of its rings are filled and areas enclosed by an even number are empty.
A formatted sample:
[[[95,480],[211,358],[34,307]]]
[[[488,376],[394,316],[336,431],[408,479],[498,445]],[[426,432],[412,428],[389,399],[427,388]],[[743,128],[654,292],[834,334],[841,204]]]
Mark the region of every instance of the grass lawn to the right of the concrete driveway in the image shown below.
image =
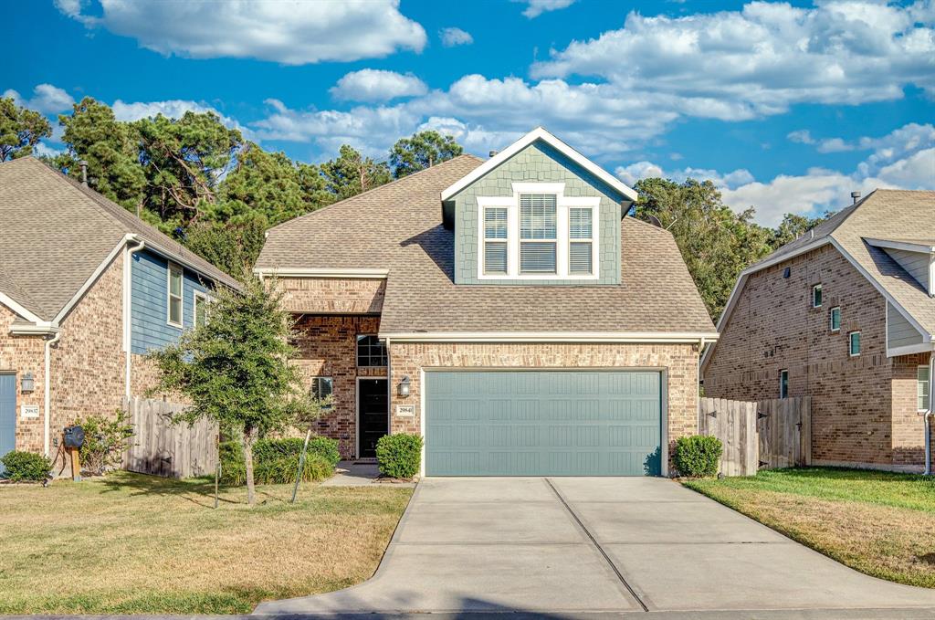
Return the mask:
[[[935,587],[932,478],[809,468],[684,484],[851,568]]]

